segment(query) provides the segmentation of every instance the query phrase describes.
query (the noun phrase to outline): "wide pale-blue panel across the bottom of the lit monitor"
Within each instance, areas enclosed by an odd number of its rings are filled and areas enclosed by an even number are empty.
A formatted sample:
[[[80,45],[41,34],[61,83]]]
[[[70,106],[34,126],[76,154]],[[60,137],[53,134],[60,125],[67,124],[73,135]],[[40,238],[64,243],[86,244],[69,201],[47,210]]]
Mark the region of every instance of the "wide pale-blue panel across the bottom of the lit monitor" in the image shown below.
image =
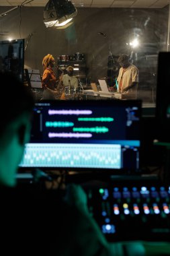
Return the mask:
[[[20,165],[25,167],[121,168],[120,145],[28,143]]]

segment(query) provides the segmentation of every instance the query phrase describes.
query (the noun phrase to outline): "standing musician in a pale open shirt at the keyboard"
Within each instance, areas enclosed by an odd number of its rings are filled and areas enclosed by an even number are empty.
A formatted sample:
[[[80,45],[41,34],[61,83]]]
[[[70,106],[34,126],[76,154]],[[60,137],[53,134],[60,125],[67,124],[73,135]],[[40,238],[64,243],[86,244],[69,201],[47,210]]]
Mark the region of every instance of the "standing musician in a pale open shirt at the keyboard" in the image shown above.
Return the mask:
[[[118,92],[136,93],[138,88],[138,68],[130,63],[128,55],[120,55],[118,58],[120,70],[118,74]]]

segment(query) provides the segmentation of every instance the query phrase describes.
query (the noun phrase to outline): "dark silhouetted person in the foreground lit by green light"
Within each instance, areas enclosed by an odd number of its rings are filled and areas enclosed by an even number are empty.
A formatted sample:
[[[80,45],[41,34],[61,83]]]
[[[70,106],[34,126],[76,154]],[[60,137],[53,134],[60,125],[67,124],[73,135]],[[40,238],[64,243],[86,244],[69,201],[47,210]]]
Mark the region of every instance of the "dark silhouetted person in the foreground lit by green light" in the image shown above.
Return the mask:
[[[22,160],[25,143],[30,139],[34,96],[11,73],[0,73],[0,84],[2,95],[10,92],[8,111],[4,110],[4,103],[0,101],[0,221],[3,254],[169,255],[169,243],[108,243],[89,213],[87,195],[80,185],[70,184],[60,193],[57,189],[60,182],[58,177],[45,181],[42,190],[38,187],[32,191],[25,183],[17,187],[15,174]]]

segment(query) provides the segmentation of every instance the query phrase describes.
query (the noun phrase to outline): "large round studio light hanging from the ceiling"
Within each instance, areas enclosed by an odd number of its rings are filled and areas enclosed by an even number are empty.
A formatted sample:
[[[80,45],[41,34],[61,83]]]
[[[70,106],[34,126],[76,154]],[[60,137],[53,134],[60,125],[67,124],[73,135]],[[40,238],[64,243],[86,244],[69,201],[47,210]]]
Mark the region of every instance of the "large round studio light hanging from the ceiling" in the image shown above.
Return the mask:
[[[69,0],[49,0],[44,8],[46,28],[65,27],[77,15],[77,8]]]

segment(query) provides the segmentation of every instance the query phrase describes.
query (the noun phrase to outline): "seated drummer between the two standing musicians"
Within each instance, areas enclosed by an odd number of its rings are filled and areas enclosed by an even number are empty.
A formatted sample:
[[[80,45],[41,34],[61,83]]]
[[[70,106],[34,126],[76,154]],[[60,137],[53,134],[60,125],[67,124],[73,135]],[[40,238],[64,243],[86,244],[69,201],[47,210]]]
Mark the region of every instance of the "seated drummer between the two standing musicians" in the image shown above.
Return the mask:
[[[74,88],[74,91],[76,91],[79,81],[75,75],[73,75],[74,69],[72,66],[67,67],[67,74],[62,76],[62,84],[66,87],[72,87]],[[65,93],[62,94],[61,100],[65,99]]]

